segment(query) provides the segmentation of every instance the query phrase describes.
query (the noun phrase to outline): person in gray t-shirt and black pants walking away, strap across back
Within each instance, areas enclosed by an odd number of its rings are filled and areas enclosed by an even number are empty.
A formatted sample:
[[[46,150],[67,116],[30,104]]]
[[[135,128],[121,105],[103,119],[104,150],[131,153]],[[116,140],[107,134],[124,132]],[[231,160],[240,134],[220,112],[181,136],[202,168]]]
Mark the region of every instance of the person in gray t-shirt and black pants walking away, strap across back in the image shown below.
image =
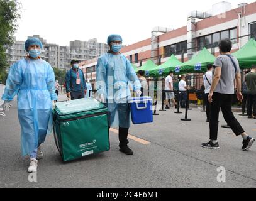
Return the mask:
[[[234,80],[237,84],[237,99],[242,100],[240,68],[238,60],[230,54],[232,43],[229,39],[221,40],[219,43],[220,56],[214,62],[214,76],[209,91],[208,100],[211,103],[210,114],[210,141],[203,143],[203,148],[220,149],[217,141],[218,137],[218,119],[220,109],[228,126],[236,134],[242,136],[242,150],[250,149],[255,139],[248,136],[240,123],[235,119],[232,112],[232,98],[235,93]]]

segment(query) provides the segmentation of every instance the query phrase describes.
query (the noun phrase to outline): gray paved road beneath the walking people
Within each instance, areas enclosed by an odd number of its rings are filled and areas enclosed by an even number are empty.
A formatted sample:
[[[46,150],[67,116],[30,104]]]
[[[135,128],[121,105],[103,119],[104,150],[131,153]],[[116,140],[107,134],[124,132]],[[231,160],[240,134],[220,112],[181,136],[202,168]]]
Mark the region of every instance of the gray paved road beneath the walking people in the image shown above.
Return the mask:
[[[64,96],[62,95],[62,99]],[[43,144],[37,182],[28,182],[28,160],[20,156],[20,128],[16,102],[0,119],[0,188],[255,188],[256,144],[241,151],[242,138],[219,129],[218,151],[201,148],[208,141],[209,125],[201,109],[189,111],[190,122],[174,109],[154,116],[153,124],[131,126],[126,156],[118,151],[118,135],[111,131],[111,151],[62,163],[53,135]],[[183,111],[183,110],[182,110]],[[220,124],[225,124],[220,115]],[[256,138],[256,120],[240,117],[245,130]],[[143,144],[144,139],[149,144]],[[217,182],[217,168],[226,169],[226,182]]]

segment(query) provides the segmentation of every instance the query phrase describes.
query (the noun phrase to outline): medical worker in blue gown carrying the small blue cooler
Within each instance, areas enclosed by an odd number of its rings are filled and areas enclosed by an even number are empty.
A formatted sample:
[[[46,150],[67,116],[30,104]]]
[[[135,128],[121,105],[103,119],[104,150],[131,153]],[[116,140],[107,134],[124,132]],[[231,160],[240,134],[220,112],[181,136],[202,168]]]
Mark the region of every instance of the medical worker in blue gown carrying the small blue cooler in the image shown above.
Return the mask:
[[[122,41],[120,35],[108,36],[109,51],[101,55],[97,62],[96,89],[97,99],[108,106],[111,126],[119,126],[120,151],[133,155],[127,140],[130,128],[129,85],[133,85],[137,97],[142,92],[135,70],[125,55],[120,53]]]

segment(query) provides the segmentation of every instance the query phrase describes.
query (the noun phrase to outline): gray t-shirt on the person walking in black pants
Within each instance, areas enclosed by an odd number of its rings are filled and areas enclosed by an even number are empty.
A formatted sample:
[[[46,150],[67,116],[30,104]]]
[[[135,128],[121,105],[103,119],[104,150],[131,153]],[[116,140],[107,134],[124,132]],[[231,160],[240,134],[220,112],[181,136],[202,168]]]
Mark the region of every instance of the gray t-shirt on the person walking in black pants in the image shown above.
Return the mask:
[[[237,58],[231,55],[233,61],[235,62],[237,72],[235,72],[235,67],[231,59],[226,55],[220,55],[216,58],[214,62],[214,67],[221,67],[221,77],[214,92],[220,94],[235,94],[235,75],[240,72],[239,63]],[[215,70],[214,70],[215,72]],[[214,74],[213,72],[213,74]]]

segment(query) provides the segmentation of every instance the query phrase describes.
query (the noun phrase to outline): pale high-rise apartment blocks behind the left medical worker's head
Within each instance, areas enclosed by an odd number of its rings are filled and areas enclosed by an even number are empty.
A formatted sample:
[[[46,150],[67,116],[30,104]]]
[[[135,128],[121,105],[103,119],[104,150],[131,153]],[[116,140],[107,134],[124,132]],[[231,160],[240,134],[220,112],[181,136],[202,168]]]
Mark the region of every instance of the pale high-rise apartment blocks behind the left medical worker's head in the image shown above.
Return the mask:
[[[52,67],[65,70],[70,69],[72,59],[84,62],[92,58],[99,57],[108,51],[108,45],[105,43],[97,43],[97,39],[93,38],[89,41],[70,41],[70,46],[59,46],[47,43],[47,40],[39,35],[28,36],[28,38],[36,37],[42,41],[43,49],[41,57],[46,60]],[[9,67],[18,60],[23,59],[28,53],[25,50],[25,41],[14,41],[13,45],[6,49],[6,57]]]

